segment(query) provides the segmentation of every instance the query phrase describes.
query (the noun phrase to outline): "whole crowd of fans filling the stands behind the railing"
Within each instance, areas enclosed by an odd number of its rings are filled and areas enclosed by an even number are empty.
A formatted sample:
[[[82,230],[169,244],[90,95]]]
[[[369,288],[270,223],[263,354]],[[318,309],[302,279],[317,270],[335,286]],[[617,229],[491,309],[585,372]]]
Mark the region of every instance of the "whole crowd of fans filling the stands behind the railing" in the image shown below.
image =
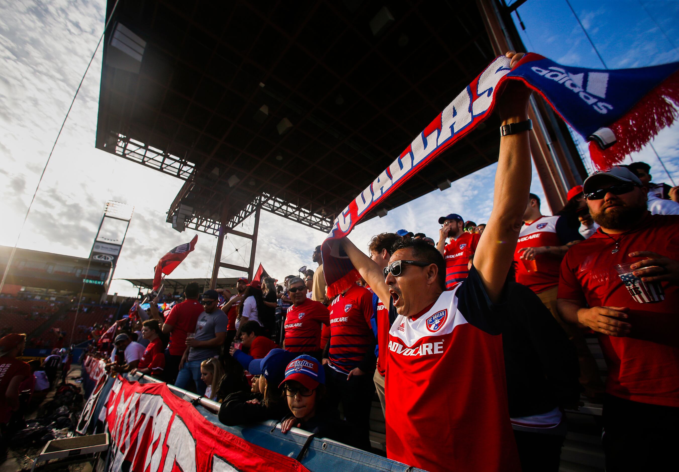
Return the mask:
[[[525,119],[528,95],[516,96],[499,107],[504,122]],[[525,133],[502,138],[488,226],[449,213],[437,241],[382,233],[369,256],[345,238],[362,278],[333,299],[320,246],[316,270],[282,285],[241,278],[236,293],[200,294],[189,283],[168,312],[154,299],[143,323],[119,322],[107,368],[218,401],[227,425],[280,420],[284,433],[365,450],[376,392],[388,456],[432,471],[557,471],[564,410],[583,393],[603,403],[608,471],[671,461],[679,219],[667,215],[679,215],[679,187],[655,185],[643,162],[614,166],[545,216],[538,196],[526,199],[529,156]],[[605,384],[587,332],[599,336]],[[29,375],[16,336],[0,342],[7,412]]]

